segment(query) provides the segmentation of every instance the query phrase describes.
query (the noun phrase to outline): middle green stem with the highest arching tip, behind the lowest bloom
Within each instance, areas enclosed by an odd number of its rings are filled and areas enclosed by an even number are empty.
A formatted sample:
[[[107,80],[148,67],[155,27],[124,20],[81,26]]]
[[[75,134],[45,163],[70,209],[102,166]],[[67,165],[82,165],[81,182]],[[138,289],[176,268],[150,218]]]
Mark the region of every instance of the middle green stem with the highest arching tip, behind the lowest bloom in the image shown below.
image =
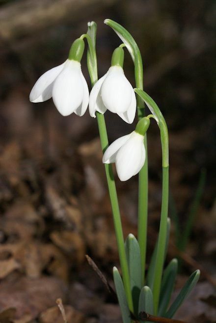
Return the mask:
[[[111,27],[121,38],[127,47],[135,65],[135,84],[139,89],[143,89],[143,66],[142,57],[139,48],[132,35],[121,25],[111,19],[106,19],[105,24]],[[120,45],[121,46],[121,45]],[[138,119],[144,117],[144,102],[136,95]],[[138,189],[138,242],[141,255],[142,284],[145,280],[145,261],[146,261],[146,240],[147,240],[147,216],[148,216],[148,154],[147,138],[144,137],[144,146],[146,151],[145,163],[139,172]]]

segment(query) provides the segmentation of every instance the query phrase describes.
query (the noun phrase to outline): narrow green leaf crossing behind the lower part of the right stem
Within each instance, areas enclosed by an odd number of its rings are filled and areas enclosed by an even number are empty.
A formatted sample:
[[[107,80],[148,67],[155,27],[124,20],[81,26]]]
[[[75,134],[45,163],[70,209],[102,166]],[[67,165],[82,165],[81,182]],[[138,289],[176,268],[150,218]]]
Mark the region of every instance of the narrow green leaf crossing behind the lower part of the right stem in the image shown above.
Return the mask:
[[[167,248],[168,248],[168,242],[169,242],[169,234],[170,234],[170,219],[167,219],[167,230],[166,230],[166,247],[165,247],[165,254],[164,254],[164,260],[166,257],[166,253],[167,253]],[[153,285],[154,285],[154,277],[155,277],[155,264],[156,264],[156,256],[157,256],[157,249],[158,249],[158,239],[157,242],[155,244],[155,248],[151,257],[151,261],[149,264],[149,268],[148,268],[148,274],[147,274],[147,283],[146,285],[148,285],[150,287],[150,289],[153,289]]]

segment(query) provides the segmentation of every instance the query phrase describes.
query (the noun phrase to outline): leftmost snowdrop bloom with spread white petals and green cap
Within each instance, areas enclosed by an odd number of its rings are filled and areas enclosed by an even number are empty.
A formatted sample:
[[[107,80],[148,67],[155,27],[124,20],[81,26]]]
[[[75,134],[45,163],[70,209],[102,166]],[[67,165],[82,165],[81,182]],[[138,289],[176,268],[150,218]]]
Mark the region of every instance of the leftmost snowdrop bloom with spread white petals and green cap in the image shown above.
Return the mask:
[[[31,102],[44,102],[53,97],[54,105],[62,116],[73,112],[82,116],[88,106],[89,91],[81,72],[84,41],[76,39],[71,46],[68,59],[44,73],[30,92]]]

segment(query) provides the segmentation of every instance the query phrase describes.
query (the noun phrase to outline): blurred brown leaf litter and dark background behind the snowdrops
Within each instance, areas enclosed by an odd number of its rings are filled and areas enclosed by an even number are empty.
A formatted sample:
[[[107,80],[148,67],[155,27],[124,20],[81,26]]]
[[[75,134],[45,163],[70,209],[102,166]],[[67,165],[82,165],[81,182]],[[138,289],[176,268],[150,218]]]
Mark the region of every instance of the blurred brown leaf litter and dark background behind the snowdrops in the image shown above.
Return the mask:
[[[62,63],[74,39],[98,24],[99,77],[120,44],[110,18],[134,36],[144,65],[144,89],[158,103],[170,142],[167,261],[180,257],[176,289],[197,268],[201,279],[176,318],[216,322],[214,0],[1,0],[0,1],[0,321],[121,322],[118,305],[85,259],[112,284],[118,264],[97,121],[62,117],[51,100],[32,104],[38,77]],[[90,80],[82,59],[82,71]],[[125,51],[125,74],[135,86]],[[109,141],[133,131],[106,112]],[[149,262],[161,207],[161,144],[148,130]],[[117,179],[125,236],[136,234],[137,176]],[[186,248],[188,219],[194,218]],[[193,221],[192,221],[193,222]]]

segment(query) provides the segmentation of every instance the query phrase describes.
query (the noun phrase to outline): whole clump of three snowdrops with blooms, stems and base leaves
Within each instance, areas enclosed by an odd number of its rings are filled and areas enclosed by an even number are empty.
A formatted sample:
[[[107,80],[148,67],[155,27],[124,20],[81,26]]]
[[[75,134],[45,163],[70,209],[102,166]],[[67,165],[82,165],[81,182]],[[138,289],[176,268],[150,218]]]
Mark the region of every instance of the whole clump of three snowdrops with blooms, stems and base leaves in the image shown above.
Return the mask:
[[[166,122],[155,101],[143,91],[143,67],[139,48],[132,35],[116,22],[106,19],[121,39],[111,57],[108,72],[98,80],[96,56],[95,22],[88,23],[86,34],[76,39],[69,51],[68,59],[44,73],[30,92],[31,102],[43,102],[51,97],[63,116],[73,112],[82,116],[89,106],[89,114],[96,117],[104,152],[103,163],[108,180],[108,191],[112,206],[113,222],[121,266],[120,275],[113,268],[113,278],[124,323],[143,321],[140,313],[146,312],[157,322],[159,317],[170,319],[188,296],[199,278],[199,270],[193,272],[181,292],[170,304],[177,275],[176,259],[165,267],[170,221],[168,218],[168,131]],[[89,95],[86,80],[81,71],[81,59],[87,40],[87,66],[92,89]],[[128,50],[135,66],[133,88],[124,70],[124,51]],[[151,114],[145,115],[146,105]],[[116,114],[127,123],[132,123],[137,112],[137,124],[133,132],[116,139],[110,146],[104,114]],[[148,218],[148,160],[146,132],[150,122],[157,122],[162,145],[162,208],[158,240],[146,274],[147,218]],[[122,181],[138,174],[138,221],[137,239],[130,234],[124,241],[115,180],[111,164],[115,163],[118,177]],[[148,320],[147,316],[144,320]],[[162,321],[165,322],[165,321]],[[169,322],[169,321],[166,321]]]

